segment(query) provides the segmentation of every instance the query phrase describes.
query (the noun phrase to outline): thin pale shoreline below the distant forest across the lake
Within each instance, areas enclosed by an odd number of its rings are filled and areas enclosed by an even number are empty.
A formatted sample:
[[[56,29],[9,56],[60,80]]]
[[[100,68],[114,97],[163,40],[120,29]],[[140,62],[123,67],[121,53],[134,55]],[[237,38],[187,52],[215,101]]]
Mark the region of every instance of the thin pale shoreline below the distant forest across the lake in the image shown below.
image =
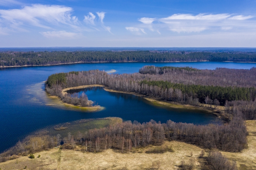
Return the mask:
[[[30,67],[30,66],[55,66],[55,65],[64,65],[64,64],[79,64],[79,63],[177,63],[177,62],[211,62],[208,60],[202,61],[170,61],[170,62],[146,62],[146,61],[123,61],[123,62],[74,62],[74,63],[59,63],[59,64],[48,64],[48,65],[22,65],[22,66],[0,66],[0,68],[12,68],[12,67]],[[212,61],[212,62],[233,62],[233,61]],[[234,62],[234,63],[256,63],[256,62]]]

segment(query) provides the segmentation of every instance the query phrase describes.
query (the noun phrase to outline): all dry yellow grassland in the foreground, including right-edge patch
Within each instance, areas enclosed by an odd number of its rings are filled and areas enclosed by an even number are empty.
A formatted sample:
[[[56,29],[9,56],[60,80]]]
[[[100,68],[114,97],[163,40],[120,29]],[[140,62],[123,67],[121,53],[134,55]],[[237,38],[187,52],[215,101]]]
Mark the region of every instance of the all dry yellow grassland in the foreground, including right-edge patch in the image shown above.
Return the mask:
[[[230,160],[237,162],[239,170],[256,169],[256,121],[246,121],[249,131],[248,149],[239,153],[222,152]],[[88,153],[81,151],[77,147],[75,150],[66,150],[53,148],[48,151],[41,151],[35,156],[41,155],[40,158],[30,159],[22,156],[18,159],[0,163],[1,170],[22,170],[27,166],[28,170],[57,170],[58,159],[60,158],[61,170],[104,170],[104,169],[159,169],[175,170],[179,169],[181,161],[196,159],[196,167],[199,168],[202,159],[199,159],[201,148],[184,142],[166,141],[164,146],[171,146],[174,152],[166,153],[146,153],[147,150],[155,146],[149,146],[133,151],[121,153],[118,150],[104,150],[99,153]],[[207,154],[206,154],[207,155]],[[152,166],[154,164],[154,166]]]

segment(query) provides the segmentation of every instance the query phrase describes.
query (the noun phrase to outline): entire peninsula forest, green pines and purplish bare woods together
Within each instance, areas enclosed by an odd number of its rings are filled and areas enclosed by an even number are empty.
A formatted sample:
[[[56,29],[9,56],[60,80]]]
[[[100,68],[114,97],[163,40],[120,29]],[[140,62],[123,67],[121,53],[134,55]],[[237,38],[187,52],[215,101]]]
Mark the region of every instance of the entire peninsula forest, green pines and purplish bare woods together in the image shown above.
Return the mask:
[[[144,66],[140,69],[140,72],[152,72],[149,71],[150,69],[161,70],[163,68]],[[253,81],[255,68],[251,70],[223,69],[223,73],[219,76],[215,73],[218,73],[220,69],[209,73],[206,70],[193,68],[165,67],[163,70],[165,73],[159,74],[157,72],[157,75],[148,73],[107,74],[99,70],[58,73],[49,76],[46,82],[46,91],[59,96],[66,103],[79,105],[81,103],[79,101],[82,101],[81,97],[78,98],[75,94],[72,95],[73,97],[71,94],[63,95],[61,90],[81,85],[101,84],[114,90],[144,94],[181,104],[225,105],[227,116],[231,119],[237,112],[241,112],[244,119],[256,119],[256,88],[255,81]],[[232,71],[236,74],[229,75]],[[196,75],[197,72],[199,80],[185,81],[188,75]],[[203,76],[204,74],[207,76]],[[175,75],[179,79],[175,79]],[[225,79],[225,81],[221,79]],[[201,85],[198,82],[204,83]],[[216,84],[216,82],[220,84]],[[231,85],[235,82],[240,87]],[[230,107],[233,109],[230,110]]]

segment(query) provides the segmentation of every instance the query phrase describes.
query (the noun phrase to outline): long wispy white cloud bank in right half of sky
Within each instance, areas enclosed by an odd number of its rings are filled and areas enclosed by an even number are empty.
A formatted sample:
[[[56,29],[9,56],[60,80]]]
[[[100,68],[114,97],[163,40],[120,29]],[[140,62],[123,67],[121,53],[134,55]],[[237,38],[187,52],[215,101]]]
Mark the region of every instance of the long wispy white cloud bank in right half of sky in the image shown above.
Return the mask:
[[[137,30],[150,30],[159,32],[160,29],[168,29],[172,32],[202,32],[205,30],[212,31],[227,31],[241,26],[246,27],[244,23],[246,20],[253,18],[248,15],[236,14],[173,14],[164,18],[148,18],[143,17],[138,19],[143,25],[137,25],[134,28]],[[253,25],[251,25],[253,26]],[[126,27],[133,28],[133,27]],[[245,28],[247,29],[247,28]],[[127,29],[132,31],[132,29]],[[133,31],[132,31],[133,32]],[[145,31],[144,31],[145,32]],[[159,32],[160,34],[160,32]]]

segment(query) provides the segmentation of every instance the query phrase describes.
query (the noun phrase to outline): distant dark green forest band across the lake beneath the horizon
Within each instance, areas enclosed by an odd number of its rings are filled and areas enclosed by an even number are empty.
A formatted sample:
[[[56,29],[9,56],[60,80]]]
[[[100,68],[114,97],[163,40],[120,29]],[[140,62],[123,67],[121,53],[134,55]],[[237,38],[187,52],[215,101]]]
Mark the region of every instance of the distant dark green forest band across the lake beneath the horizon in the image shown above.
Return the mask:
[[[55,65],[75,62],[256,62],[256,53],[213,53],[185,51],[53,51],[1,52],[0,66]]]

